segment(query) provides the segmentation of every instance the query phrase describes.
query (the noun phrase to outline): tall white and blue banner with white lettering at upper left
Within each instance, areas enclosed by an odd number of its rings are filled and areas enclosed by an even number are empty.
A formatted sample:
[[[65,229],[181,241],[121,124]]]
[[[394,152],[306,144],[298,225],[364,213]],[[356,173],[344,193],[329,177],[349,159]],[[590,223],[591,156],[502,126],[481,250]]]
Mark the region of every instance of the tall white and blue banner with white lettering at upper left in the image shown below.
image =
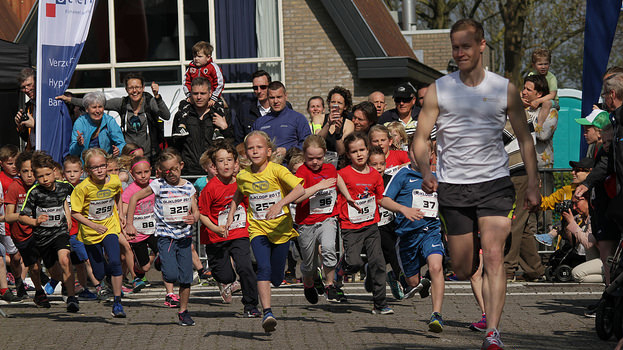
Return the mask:
[[[69,153],[72,123],[62,95],[89,33],[95,0],[40,0],[37,33],[36,141],[61,163]]]

